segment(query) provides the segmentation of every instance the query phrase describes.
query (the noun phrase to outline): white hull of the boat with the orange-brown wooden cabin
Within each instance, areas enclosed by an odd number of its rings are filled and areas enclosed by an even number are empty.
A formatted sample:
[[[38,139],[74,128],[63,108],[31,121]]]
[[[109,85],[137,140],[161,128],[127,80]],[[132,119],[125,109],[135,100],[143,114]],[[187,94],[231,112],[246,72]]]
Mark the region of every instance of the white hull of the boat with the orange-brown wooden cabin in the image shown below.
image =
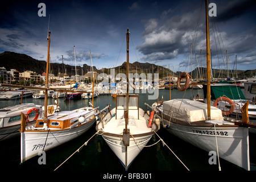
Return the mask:
[[[21,133],[21,163],[28,160],[39,152],[50,150],[79,137],[88,131],[96,121],[94,117],[91,121],[86,122],[82,126],[64,130],[26,130]]]

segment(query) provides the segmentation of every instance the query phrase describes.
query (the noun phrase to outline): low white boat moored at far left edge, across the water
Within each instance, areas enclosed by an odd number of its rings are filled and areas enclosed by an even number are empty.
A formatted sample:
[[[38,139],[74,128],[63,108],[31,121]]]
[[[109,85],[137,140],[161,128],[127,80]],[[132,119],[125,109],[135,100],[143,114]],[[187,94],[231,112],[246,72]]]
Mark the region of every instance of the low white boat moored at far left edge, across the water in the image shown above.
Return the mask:
[[[33,92],[24,89],[6,91],[0,93],[0,100],[14,100],[17,98],[26,98],[31,97],[32,94]]]

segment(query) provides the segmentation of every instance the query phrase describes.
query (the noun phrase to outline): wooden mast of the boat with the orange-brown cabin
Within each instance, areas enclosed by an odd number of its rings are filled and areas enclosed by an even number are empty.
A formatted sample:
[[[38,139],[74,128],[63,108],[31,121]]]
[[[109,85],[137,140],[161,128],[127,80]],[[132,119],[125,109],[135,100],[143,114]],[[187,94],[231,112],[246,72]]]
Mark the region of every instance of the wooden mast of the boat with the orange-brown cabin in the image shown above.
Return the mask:
[[[49,77],[49,47],[50,47],[50,42],[51,42],[51,38],[50,38],[50,35],[51,35],[51,31],[48,32],[48,52],[47,52],[47,62],[46,62],[46,88],[49,87],[48,85],[48,77]],[[44,127],[47,128],[47,121],[48,121],[48,118],[47,118],[47,102],[48,102],[48,89],[45,90],[45,93],[44,93]]]

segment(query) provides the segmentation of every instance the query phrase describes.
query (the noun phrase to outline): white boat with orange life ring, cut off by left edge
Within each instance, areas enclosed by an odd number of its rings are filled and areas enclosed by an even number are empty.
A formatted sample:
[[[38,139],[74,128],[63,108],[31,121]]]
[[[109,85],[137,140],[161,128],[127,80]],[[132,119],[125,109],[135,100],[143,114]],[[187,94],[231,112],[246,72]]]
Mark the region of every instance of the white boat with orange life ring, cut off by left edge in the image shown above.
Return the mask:
[[[21,115],[27,116],[26,125],[32,125],[42,117],[42,106],[32,103],[18,104],[0,109],[0,141],[19,136]]]

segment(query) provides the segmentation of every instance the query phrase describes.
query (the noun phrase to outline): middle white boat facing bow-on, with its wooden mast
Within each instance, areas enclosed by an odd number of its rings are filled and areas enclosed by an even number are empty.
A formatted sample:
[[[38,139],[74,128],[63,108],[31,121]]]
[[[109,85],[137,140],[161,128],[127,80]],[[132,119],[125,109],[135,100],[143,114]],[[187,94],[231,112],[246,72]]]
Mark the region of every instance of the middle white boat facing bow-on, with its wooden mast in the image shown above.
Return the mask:
[[[127,40],[127,70],[129,75],[129,30]],[[127,170],[139,152],[151,139],[158,126],[149,115],[139,108],[139,96],[129,95],[129,86],[125,95],[117,94],[115,108],[97,123],[96,130],[121,161]]]

